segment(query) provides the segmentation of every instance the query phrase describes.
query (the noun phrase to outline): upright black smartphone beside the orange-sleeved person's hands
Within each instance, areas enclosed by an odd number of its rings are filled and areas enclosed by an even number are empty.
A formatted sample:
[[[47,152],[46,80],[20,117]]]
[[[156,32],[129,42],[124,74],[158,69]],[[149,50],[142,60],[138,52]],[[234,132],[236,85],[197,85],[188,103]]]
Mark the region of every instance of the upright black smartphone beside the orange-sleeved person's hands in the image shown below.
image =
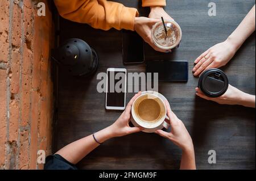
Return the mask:
[[[135,31],[122,30],[123,64],[144,62],[143,39]]]

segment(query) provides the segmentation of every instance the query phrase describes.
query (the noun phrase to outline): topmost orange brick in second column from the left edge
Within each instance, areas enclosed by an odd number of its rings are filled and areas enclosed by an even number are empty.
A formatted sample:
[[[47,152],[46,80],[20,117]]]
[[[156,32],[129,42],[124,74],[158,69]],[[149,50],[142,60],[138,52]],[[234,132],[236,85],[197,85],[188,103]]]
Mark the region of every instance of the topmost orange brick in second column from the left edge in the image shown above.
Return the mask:
[[[18,4],[13,6],[13,24],[12,24],[12,41],[11,43],[20,47],[22,36],[22,10]]]

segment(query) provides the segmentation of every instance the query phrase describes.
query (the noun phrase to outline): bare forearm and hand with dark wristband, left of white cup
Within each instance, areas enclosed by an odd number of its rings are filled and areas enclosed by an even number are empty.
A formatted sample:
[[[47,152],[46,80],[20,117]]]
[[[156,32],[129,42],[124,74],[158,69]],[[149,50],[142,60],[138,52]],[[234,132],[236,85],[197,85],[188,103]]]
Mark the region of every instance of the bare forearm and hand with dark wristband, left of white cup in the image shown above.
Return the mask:
[[[98,131],[97,133],[94,133],[94,136],[98,142],[103,143],[113,137],[125,136],[127,134],[143,130],[141,127],[129,127],[131,106],[139,95],[141,95],[141,92],[136,94],[130,100],[126,106],[125,111],[121,114],[117,121],[115,121],[114,124],[105,129],[102,129],[101,131]],[[81,138],[80,140],[72,142],[71,144],[57,151],[55,154],[59,154],[67,161],[76,164],[87,154],[89,154],[90,151],[96,149],[99,145],[100,144],[94,140],[93,134],[91,134],[90,136],[86,136],[85,138]]]

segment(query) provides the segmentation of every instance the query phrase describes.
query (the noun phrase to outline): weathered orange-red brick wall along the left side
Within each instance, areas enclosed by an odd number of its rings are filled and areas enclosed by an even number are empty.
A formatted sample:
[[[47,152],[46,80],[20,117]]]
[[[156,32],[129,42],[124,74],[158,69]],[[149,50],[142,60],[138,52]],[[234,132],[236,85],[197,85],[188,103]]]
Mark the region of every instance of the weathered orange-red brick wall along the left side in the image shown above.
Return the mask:
[[[0,1],[0,169],[42,169],[51,153],[52,21],[32,0]]]

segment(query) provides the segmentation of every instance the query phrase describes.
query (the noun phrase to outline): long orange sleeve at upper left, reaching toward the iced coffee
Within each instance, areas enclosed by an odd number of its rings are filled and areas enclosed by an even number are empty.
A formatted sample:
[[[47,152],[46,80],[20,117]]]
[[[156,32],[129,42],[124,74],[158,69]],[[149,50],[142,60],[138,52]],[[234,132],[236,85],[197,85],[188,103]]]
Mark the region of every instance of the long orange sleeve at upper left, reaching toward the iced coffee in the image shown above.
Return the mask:
[[[106,0],[55,0],[59,14],[73,22],[87,23],[93,28],[134,30],[135,8]]]

